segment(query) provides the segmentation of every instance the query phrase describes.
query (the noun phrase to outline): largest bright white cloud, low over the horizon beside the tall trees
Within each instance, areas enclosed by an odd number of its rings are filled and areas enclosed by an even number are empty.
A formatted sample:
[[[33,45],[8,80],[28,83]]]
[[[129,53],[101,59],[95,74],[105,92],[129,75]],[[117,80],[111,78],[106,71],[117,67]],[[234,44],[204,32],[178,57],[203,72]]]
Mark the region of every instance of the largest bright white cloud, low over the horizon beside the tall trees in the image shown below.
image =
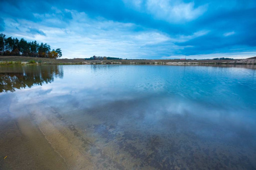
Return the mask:
[[[114,22],[104,18],[91,19],[85,12],[75,10],[65,12],[72,14],[72,20],[68,23],[53,16],[55,14],[34,14],[42,20],[36,23],[19,19],[6,20],[10,29],[4,33],[19,39],[23,37],[28,41],[44,42],[51,45],[52,49],[61,48],[63,58],[84,58],[94,55],[146,58],[155,53],[151,53],[150,50],[164,51],[163,47],[158,45],[170,41],[170,37],[158,31],[133,31],[137,28],[133,23]],[[19,27],[20,31],[14,30],[11,25]],[[29,35],[27,30],[30,27],[40,28],[47,36]],[[151,48],[147,48],[147,45],[151,45]]]

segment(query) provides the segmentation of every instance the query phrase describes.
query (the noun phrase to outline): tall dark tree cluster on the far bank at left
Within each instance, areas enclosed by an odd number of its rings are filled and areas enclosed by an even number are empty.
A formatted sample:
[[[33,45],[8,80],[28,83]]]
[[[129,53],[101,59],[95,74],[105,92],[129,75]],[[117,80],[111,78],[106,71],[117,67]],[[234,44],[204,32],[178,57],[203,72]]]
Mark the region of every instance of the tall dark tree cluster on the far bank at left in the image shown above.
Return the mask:
[[[39,44],[36,41],[28,42],[26,40],[13,37],[6,37],[0,34],[0,55],[1,56],[27,56],[27,57],[44,57],[57,58],[61,57],[61,49],[51,50],[48,44]]]

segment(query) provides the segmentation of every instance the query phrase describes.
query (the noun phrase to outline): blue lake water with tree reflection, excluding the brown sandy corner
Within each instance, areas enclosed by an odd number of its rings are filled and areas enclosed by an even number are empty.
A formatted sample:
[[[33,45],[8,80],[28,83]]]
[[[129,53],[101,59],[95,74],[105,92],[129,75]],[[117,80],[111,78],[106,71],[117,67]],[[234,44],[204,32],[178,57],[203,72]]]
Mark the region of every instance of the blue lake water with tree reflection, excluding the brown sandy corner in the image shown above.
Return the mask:
[[[114,169],[256,168],[255,69],[72,65],[0,70],[0,100],[23,105],[34,100],[54,108],[95,139],[85,150],[96,158],[95,167],[104,160],[105,168],[114,164]]]

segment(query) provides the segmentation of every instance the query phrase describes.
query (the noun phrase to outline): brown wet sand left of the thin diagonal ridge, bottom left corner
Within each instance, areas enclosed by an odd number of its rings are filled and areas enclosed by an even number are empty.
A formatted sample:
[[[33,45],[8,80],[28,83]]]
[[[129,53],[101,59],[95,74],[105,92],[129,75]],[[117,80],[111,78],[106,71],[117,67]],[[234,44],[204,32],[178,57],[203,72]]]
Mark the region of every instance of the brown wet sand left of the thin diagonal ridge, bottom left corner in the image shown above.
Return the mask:
[[[1,108],[0,152],[1,158],[7,158],[1,159],[0,169],[67,169],[39,128],[32,125],[31,117],[16,120],[14,114],[9,105]]]

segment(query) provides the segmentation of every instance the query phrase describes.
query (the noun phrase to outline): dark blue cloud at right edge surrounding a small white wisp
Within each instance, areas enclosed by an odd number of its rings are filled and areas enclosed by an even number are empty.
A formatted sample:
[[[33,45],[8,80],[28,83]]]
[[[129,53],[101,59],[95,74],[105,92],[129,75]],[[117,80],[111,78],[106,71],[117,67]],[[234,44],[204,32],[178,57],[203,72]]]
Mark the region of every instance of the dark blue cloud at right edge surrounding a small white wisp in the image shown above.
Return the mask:
[[[250,50],[256,46],[256,8],[238,9],[219,12],[216,15],[196,21],[192,27],[202,25],[201,28],[211,32],[177,45],[191,45],[185,48],[188,54],[227,52],[233,49]],[[241,47],[241,48],[240,48]]]

